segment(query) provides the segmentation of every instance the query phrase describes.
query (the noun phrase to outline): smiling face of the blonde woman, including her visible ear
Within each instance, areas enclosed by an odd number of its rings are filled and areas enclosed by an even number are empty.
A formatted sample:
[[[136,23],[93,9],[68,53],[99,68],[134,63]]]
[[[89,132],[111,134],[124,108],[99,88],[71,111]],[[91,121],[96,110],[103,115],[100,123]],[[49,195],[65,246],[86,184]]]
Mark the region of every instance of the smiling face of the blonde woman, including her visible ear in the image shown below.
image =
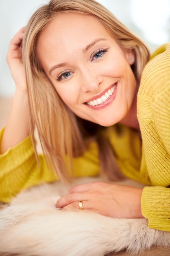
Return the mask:
[[[123,52],[97,18],[60,13],[41,33],[37,54],[58,94],[78,117],[111,126],[133,112],[133,52]]]

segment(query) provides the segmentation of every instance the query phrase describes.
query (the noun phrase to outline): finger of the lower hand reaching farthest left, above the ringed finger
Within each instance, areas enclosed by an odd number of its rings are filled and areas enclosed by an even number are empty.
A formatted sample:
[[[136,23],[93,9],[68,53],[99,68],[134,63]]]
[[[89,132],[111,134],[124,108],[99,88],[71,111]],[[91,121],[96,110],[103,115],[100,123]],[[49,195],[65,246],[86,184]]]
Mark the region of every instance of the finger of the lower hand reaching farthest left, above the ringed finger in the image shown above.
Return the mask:
[[[68,193],[67,195],[64,195],[57,201],[56,207],[63,208],[68,204],[82,200],[87,200],[88,198],[89,195],[87,193]]]

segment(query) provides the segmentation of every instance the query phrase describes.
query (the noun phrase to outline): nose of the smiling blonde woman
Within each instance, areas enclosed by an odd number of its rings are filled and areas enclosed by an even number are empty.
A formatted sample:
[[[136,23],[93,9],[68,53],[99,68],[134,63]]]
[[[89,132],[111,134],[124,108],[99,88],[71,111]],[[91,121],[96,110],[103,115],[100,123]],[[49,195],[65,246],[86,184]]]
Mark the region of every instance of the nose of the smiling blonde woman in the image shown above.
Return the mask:
[[[83,92],[97,92],[103,77],[94,68],[84,68],[81,73],[81,90]]]

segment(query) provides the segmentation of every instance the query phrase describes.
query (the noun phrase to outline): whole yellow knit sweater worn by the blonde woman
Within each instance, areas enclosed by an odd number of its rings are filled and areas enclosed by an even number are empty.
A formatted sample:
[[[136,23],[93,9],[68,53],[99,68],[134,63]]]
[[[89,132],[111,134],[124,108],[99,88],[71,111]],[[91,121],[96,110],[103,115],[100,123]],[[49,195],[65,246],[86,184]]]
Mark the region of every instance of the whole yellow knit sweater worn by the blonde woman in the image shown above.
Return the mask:
[[[159,47],[144,68],[137,96],[137,117],[142,133],[122,125],[106,128],[122,173],[146,184],[142,193],[142,214],[149,227],[170,231],[170,44]],[[119,128],[119,132],[118,132]],[[0,139],[3,130],[0,132]],[[37,166],[30,137],[0,155],[0,201],[23,189],[52,182],[56,176],[39,155]],[[96,143],[75,158],[76,177],[99,174]]]

